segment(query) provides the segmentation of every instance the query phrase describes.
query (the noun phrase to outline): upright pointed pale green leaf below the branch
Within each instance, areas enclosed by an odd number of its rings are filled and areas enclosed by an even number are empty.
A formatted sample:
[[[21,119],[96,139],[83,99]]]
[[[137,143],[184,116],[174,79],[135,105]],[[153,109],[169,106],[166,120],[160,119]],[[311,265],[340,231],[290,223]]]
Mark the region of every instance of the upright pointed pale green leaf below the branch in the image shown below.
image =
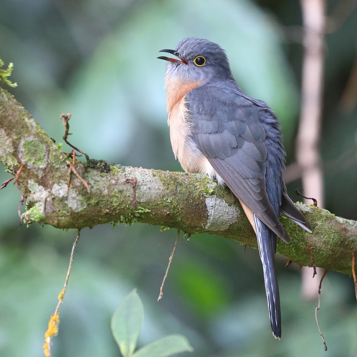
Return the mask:
[[[131,357],[141,330],[144,308],[134,289],[119,305],[111,320],[111,329],[120,352]]]

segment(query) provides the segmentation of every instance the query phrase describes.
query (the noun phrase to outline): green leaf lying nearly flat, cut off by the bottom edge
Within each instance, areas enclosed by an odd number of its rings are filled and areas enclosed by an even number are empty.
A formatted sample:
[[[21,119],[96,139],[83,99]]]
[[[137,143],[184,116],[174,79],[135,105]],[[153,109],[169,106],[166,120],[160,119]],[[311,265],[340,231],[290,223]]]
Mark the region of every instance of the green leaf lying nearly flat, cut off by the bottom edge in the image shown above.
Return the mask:
[[[181,335],[170,335],[140,348],[133,357],[166,357],[185,351],[193,351],[187,339]]]

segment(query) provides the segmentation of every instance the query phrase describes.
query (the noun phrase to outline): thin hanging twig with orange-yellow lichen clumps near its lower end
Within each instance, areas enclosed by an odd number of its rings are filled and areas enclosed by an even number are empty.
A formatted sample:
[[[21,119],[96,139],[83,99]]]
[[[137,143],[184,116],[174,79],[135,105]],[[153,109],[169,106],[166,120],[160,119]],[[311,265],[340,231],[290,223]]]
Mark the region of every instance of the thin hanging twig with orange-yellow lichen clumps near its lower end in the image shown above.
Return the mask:
[[[58,303],[56,306],[55,313],[51,316],[50,321],[48,323],[48,329],[45,332],[45,343],[43,345],[43,348],[44,348],[44,355],[46,357],[51,357],[51,337],[56,336],[58,333],[58,325],[60,322],[59,310],[60,310],[60,306],[63,302],[63,298],[65,296],[65,292],[66,292],[66,288],[67,288],[68,280],[69,280],[69,275],[70,275],[71,269],[72,269],[74,250],[75,250],[76,245],[79,241],[80,234],[81,234],[81,230],[79,229],[77,238],[74,241],[73,246],[72,246],[72,251],[71,251],[71,256],[70,256],[70,260],[69,260],[69,266],[68,266],[68,270],[67,270],[65,284],[64,284],[63,289],[61,290],[61,292],[58,295]]]

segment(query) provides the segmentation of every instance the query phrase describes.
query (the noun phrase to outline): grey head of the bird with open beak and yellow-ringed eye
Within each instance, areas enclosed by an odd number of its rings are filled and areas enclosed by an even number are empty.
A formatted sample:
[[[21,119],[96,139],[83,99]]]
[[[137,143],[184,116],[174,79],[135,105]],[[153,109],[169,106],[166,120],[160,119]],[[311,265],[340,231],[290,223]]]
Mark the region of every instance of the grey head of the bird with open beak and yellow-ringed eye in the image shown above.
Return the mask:
[[[157,57],[170,62],[166,70],[169,79],[212,83],[232,78],[227,56],[214,42],[187,37],[179,42],[175,50],[159,52],[168,52],[178,57]]]

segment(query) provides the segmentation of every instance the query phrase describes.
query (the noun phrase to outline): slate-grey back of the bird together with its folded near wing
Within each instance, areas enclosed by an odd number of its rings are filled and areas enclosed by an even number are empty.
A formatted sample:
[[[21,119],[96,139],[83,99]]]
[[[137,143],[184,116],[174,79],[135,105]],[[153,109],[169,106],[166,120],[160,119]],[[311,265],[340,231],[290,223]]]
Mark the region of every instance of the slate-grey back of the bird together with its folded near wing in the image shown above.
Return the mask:
[[[234,80],[198,86],[187,94],[192,139],[233,193],[280,237],[285,151],[269,107]]]

